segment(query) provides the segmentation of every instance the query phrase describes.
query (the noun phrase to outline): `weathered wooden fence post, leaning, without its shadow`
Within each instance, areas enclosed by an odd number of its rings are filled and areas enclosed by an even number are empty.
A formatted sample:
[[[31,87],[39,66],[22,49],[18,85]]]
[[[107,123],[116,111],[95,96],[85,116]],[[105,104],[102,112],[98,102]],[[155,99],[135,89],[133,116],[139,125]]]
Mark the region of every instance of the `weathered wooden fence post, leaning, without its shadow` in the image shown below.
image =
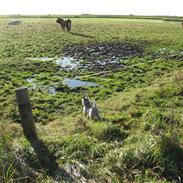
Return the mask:
[[[36,139],[37,134],[32,115],[32,107],[29,101],[28,89],[18,88],[15,92],[24,135],[27,139]]]

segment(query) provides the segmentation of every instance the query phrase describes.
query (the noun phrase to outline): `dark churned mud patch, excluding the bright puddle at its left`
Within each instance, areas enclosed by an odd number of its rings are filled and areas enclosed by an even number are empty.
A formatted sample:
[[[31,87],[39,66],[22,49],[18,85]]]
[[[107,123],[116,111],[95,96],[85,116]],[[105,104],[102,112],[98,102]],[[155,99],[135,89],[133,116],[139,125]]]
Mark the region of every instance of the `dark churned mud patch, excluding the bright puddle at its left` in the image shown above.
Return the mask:
[[[110,70],[122,66],[124,59],[143,54],[143,46],[131,43],[108,43],[73,46],[65,50],[65,55],[82,60],[81,68],[87,70]]]

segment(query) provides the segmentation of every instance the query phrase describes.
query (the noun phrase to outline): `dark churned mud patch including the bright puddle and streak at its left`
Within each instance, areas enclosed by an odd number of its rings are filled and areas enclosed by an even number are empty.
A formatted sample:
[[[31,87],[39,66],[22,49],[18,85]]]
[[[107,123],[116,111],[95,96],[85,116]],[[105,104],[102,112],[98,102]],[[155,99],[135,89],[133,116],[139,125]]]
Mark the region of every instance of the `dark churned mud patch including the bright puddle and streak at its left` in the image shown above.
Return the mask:
[[[61,70],[105,71],[123,66],[123,60],[143,54],[143,46],[132,43],[108,43],[88,46],[73,46],[65,50],[63,57],[27,58],[29,60],[52,61]]]

